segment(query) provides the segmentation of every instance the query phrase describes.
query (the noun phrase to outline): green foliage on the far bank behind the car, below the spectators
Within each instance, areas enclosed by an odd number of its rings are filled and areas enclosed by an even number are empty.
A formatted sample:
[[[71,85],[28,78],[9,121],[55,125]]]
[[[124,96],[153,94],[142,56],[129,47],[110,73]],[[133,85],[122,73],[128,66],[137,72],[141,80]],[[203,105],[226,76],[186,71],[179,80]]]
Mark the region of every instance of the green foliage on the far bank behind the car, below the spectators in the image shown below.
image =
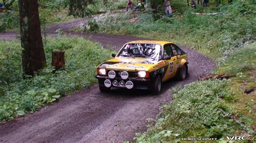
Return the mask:
[[[232,4],[220,5],[215,9],[195,10],[187,6],[186,8],[187,10],[182,12],[183,15],[177,12],[172,18],[158,20],[154,20],[156,16],[153,16],[150,11],[140,12],[137,23],[126,22],[127,19],[133,18],[130,12],[115,15],[107,13],[104,18],[96,18],[96,20],[100,32],[171,40],[179,44],[190,45],[191,48],[213,59],[225,57],[246,42],[255,41],[256,18],[253,11],[256,11],[256,6],[248,1],[235,1]],[[223,12],[225,15],[191,14],[192,12],[213,11]],[[163,15],[163,13],[160,14]]]

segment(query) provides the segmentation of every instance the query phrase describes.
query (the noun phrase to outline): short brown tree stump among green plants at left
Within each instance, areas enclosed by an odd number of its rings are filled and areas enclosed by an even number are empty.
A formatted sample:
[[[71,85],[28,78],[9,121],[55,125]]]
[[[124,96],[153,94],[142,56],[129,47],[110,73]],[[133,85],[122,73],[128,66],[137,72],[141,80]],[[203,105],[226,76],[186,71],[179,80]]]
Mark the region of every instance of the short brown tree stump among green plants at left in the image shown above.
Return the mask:
[[[52,51],[51,66],[58,70],[65,68],[65,52],[64,51]]]

